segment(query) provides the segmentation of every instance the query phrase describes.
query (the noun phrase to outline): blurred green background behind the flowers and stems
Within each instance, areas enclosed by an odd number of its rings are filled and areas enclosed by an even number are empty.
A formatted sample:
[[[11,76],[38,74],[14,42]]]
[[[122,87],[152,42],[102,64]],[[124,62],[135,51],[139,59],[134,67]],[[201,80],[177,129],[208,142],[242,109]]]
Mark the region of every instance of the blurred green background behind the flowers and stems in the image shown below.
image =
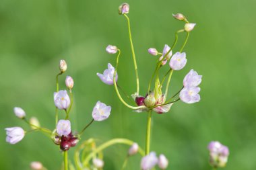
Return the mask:
[[[115,65],[115,55],[105,52],[108,44],[121,48],[119,84],[135,92],[135,74],[125,17],[117,8],[123,1],[16,1],[0,3],[0,169],[29,169],[31,161],[41,161],[48,169],[60,169],[59,148],[40,132],[26,135],[18,144],[5,142],[5,127],[29,127],[13,114],[22,107],[28,117],[36,116],[42,126],[53,129],[55,122],[55,75],[59,60],[67,61],[65,76],[75,81],[73,130],[81,130],[92,119],[96,101],[111,105],[113,111],[104,122],[95,122],[83,136],[99,142],[111,138],[129,138],[144,147],[146,114],[137,114],[119,101],[113,86],[105,85],[96,73],[108,62]],[[197,1],[127,1],[141,84],[147,91],[155,60],[147,50],[162,51],[171,46],[174,32],[183,22],[172,13],[185,14],[197,23],[185,52],[187,66],[174,72],[170,93],[181,86],[190,69],[203,75],[201,101],[175,103],[167,114],[153,115],[151,150],[164,153],[168,169],[211,169],[207,144],[219,140],[229,146],[230,157],[224,169],[256,169],[256,58],[253,0]],[[180,34],[179,50],[185,34]],[[174,50],[174,51],[175,51]],[[168,65],[166,65],[167,69]],[[165,70],[166,70],[165,69]],[[61,112],[61,118],[64,113]],[[128,147],[117,145],[106,150],[105,169],[120,169]],[[74,148],[69,158],[73,159]],[[127,169],[139,169],[140,157],[129,160]]]

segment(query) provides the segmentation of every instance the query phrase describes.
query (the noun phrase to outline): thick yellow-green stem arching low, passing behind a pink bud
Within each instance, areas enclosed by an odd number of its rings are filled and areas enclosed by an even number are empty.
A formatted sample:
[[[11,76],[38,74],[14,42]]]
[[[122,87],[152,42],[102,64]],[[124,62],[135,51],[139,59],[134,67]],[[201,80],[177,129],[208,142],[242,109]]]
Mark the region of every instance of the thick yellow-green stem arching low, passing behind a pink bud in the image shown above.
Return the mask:
[[[100,151],[103,151],[105,148],[108,148],[109,146],[112,146],[113,144],[127,144],[131,146],[134,142],[132,140],[126,139],[126,138],[114,138],[112,140],[108,140],[107,142],[104,142],[100,146],[98,146],[94,151],[92,151],[87,157],[84,159],[83,166],[85,167],[88,165],[89,161],[99,153]],[[143,150],[141,147],[139,147],[139,154],[141,156],[144,156]]]

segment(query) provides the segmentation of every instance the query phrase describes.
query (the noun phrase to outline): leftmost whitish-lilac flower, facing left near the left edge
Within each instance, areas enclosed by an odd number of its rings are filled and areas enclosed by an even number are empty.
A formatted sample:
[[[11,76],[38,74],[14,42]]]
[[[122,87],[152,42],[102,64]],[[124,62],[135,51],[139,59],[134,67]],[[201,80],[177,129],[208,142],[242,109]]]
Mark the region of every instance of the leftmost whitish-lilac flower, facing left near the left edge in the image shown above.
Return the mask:
[[[6,142],[15,144],[20,142],[25,136],[25,131],[20,127],[5,128],[6,130]]]

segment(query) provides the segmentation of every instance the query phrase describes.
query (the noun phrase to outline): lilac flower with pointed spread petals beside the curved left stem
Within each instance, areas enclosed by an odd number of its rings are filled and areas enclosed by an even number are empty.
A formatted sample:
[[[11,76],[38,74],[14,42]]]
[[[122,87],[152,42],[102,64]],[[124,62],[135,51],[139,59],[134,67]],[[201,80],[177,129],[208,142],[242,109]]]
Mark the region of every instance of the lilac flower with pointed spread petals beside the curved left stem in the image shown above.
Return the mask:
[[[103,75],[100,73],[97,73],[98,77],[100,77],[101,81],[107,85],[113,85],[114,84],[114,73],[115,68],[108,63],[108,69],[104,70]],[[116,81],[118,79],[118,75],[116,74]]]

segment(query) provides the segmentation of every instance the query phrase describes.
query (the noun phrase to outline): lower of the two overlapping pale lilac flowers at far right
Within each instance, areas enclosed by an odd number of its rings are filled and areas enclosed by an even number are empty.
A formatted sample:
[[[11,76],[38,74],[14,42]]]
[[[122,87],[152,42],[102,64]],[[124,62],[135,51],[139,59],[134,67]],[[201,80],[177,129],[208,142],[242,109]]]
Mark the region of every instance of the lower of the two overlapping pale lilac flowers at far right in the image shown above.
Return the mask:
[[[181,101],[185,103],[196,103],[200,101],[199,91],[200,87],[185,87],[180,93]]]

